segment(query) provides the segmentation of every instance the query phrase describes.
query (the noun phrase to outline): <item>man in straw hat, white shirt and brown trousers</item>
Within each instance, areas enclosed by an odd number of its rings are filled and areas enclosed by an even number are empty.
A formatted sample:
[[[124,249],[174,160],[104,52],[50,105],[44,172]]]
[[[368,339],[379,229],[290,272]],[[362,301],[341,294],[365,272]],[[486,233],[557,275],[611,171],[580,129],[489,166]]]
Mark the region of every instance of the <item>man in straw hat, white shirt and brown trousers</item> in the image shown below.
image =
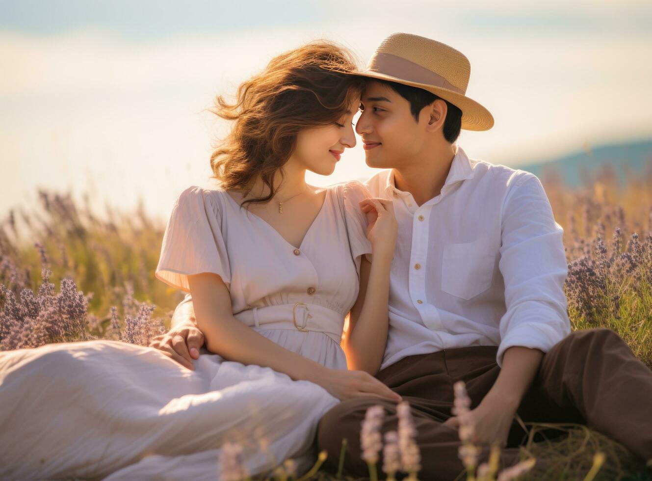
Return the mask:
[[[454,48],[405,33],[385,39],[359,74],[369,80],[356,131],[366,163],[385,169],[366,186],[393,200],[399,224],[389,335],[376,377],[411,405],[419,476],[454,479],[463,469],[451,412],[457,380],[471,398],[481,460],[494,441],[507,446],[503,462],[516,459],[526,434],[516,414],[525,422],[587,424],[650,459],[652,372],[611,330],[571,333],[563,229],[541,182],[470,159],[455,144],[460,129],[494,123],[466,97],[469,74]],[[176,327],[157,345],[185,365],[203,343],[191,318],[186,296]],[[395,430],[396,403],[377,398],[342,401],[323,416],[316,441],[331,469],[347,438],[346,471],[368,473],[359,431],[375,404],[385,407],[383,433]]]

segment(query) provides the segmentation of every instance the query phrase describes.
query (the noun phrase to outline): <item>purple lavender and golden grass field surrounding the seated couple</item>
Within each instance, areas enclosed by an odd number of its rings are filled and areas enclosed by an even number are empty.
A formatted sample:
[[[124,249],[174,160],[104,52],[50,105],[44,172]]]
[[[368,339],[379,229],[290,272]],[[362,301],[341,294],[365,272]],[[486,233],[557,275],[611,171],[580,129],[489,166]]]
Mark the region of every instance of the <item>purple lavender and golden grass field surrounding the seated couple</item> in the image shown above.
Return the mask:
[[[652,368],[652,162],[625,187],[608,167],[581,188],[554,174],[541,180],[565,230],[572,328],[612,329]],[[142,209],[125,215],[108,206],[101,220],[67,194],[40,191],[39,198],[40,206],[0,216],[0,349],[89,339],[148,345],[165,332],[183,298],[154,277],[165,225]],[[586,427],[528,427],[523,459],[547,462],[522,479],[649,476],[623,446]],[[536,435],[544,429],[562,435],[545,440]],[[319,471],[310,477],[333,479]]]

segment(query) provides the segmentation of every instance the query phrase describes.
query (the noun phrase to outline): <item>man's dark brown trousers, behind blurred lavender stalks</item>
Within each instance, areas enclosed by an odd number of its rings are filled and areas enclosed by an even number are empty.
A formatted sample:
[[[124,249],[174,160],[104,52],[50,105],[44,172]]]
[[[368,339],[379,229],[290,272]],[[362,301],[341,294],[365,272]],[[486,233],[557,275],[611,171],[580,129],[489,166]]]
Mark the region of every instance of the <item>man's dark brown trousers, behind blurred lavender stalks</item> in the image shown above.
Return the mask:
[[[496,352],[496,346],[470,346],[418,354],[376,375],[411,405],[421,450],[420,479],[453,480],[463,471],[458,429],[442,425],[452,416],[452,385],[464,380],[471,409],[477,407],[500,371]],[[316,443],[320,451],[328,452],[328,471],[337,469],[342,438],[346,437],[345,473],[368,476],[360,457],[360,427],[366,409],[374,404],[385,407],[382,433],[396,430],[396,403],[372,397],[342,401],[321,418]],[[574,331],[554,345],[544,354],[517,413],[524,422],[585,424],[642,459],[652,459],[652,371],[612,330]],[[526,432],[514,420],[501,465],[518,460],[518,446],[526,439]],[[481,461],[487,457],[485,448]],[[381,456],[378,467],[382,462]]]

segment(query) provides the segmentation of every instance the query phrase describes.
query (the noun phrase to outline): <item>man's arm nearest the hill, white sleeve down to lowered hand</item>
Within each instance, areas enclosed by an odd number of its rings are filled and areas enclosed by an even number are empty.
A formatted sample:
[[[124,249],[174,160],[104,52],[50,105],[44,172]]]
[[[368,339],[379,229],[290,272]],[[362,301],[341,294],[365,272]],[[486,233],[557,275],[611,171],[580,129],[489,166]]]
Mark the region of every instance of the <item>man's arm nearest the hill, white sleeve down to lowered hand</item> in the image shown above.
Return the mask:
[[[507,194],[501,219],[499,268],[505,281],[505,315],[496,362],[501,371],[480,405],[471,411],[477,442],[504,442],[545,352],[571,332],[563,290],[568,264],[563,228],[533,174],[524,174]],[[457,424],[452,418],[449,424]]]

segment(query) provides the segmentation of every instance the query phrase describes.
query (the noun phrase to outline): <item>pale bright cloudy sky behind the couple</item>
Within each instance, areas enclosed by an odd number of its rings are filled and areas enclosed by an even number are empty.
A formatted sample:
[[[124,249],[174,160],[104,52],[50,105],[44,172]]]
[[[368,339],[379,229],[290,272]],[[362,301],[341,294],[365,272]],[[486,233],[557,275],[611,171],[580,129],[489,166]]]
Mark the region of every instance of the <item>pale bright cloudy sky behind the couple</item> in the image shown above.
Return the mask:
[[[649,138],[651,26],[652,4],[627,0],[0,0],[0,221],[37,206],[38,188],[88,192],[98,210],[141,200],[166,220],[183,189],[214,186],[216,95],[316,39],[361,67],[394,32],[464,53],[467,96],[496,122],[462,131],[472,158],[518,168]],[[308,181],[372,175],[361,147]]]

